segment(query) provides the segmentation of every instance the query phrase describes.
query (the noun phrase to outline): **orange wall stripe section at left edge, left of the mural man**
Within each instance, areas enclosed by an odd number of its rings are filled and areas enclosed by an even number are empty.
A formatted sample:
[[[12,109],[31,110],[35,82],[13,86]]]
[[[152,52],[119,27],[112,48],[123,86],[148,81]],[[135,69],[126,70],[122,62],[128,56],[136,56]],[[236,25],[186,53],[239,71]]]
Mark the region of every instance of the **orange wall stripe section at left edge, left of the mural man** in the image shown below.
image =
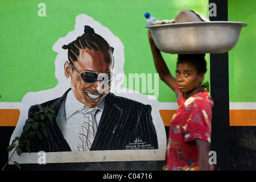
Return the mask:
[[[16,126],[19,114],[19,109],[0,109],[0,126]]]

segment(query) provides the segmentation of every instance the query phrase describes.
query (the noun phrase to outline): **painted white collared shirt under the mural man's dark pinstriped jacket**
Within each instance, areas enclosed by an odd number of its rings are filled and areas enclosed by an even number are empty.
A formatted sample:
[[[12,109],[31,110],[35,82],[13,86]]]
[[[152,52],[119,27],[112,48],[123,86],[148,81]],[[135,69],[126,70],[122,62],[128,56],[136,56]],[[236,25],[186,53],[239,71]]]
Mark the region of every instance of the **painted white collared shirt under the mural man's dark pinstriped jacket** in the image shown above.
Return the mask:
[[[104,109],[103,99],[101,103],[96,106],[97,108],[95,119],[97,127],[100,123],[102,111]],[[80,112],[85,107],[84,104],[77,101],[72,90],[67,94],[67,97],[60,105],[59,113],[57,114],[56,121],[59,126],[63,137],[69,144],[71,151],[78,151],[77,140],[78,134],[81,130],[82,122],[84,121],[84,115]]]

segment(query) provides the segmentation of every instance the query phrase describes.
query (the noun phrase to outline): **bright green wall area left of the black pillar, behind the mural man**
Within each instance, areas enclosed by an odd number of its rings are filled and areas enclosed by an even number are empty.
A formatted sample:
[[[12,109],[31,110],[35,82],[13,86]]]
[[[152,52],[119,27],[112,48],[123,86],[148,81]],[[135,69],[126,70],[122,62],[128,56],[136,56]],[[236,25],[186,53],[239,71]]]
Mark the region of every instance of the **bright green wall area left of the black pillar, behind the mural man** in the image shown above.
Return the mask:
[[[46,4],[45,17],[38,16],[41,2]],[[0,1],[0,102],[20,102],[27,92],[57,85],[57,52],[52,46],[75,29],[75,18],[79,14],[92,16],[121,40],[125,47],[124,73],[127,76],[129,73],[156,73],[144,28],[144,13],[150,12],[160,20],[172,19],[184,8],[208,15],[205,0]],[[164,53],[163,56],[174,74],[177,55]],[[209,81],[209,67],[205,77],[205,81]],[[162,81],[159,81],[158,101],[176,102],[174,94]]]

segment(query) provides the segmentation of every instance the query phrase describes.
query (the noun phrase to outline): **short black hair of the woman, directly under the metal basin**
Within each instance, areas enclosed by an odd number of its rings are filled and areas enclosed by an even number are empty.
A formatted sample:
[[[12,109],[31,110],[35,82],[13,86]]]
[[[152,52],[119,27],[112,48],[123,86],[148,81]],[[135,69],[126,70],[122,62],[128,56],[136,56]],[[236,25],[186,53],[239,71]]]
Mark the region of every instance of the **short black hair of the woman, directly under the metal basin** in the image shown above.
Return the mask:
[[[195,66],[198,74],[207,72],[207,62],[204,59],[205,53],[202,54],[182,54],[178,55],[177,64],[192,64]]]

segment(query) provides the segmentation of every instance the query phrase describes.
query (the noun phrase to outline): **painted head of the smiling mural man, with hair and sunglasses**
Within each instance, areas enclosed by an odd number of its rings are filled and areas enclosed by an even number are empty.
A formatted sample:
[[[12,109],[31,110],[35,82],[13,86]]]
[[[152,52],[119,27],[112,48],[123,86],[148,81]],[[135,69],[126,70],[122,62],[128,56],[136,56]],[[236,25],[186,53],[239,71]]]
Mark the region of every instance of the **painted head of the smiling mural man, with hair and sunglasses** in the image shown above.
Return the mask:
[[[69,63],[65,62],[64,70],[65,76],[71,77],[71,89],[76,99],[88,107],[96,107],[110,90],[110,82],[104,78],[111,78],[114,48],[93,28],[85,26],[84,32],[63,46],[68,49],[69,60]]]

